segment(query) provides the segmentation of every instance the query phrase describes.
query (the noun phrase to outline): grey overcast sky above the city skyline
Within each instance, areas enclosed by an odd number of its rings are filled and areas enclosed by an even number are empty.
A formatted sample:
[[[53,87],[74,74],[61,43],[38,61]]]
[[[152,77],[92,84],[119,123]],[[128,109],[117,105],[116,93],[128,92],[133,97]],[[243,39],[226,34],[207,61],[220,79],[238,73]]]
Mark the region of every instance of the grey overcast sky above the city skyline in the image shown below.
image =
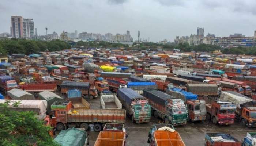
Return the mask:
[[[11,16],[33,18],[38,34],[56,31],[131,32],[150,41],[196,34],[218,37],[256,30],[255,0],[1,0],[0,33],[9,32]]]

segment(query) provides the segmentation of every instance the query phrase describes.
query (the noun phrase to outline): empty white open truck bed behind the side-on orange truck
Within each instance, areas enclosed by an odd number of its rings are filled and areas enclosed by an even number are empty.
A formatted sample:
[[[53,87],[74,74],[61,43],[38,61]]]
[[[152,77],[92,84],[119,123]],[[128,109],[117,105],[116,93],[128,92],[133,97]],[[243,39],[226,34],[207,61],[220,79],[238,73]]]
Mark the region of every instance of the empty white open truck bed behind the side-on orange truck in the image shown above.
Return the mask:
[[[102,109],[122,109],[122,103],[116,93],[101,93],[100,103]]]

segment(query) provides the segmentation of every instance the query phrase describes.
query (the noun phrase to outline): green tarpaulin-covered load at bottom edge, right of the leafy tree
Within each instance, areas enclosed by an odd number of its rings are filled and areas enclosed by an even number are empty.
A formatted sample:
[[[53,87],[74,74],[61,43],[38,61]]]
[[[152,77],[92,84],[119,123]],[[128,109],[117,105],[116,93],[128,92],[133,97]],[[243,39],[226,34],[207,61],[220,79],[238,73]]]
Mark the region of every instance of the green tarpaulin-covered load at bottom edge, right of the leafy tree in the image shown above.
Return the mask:
[[[69,128],[61,130],[54,138],[54,141],[61,146],[85,146],[88,143],[88,135],[81,128]]]

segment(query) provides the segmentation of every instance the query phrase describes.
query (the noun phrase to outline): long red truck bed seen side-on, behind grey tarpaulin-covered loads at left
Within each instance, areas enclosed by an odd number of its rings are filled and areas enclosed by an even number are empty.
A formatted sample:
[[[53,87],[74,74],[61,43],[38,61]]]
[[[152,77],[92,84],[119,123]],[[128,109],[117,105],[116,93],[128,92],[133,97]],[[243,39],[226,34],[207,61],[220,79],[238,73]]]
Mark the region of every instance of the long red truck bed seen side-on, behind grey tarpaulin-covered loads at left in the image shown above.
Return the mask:
[[[55,83],[49,83],[49,84],[25,84],[21,86],[22,90],[25,90],[27,92],[41,92],[41,91],[56,91],[57,84]]]

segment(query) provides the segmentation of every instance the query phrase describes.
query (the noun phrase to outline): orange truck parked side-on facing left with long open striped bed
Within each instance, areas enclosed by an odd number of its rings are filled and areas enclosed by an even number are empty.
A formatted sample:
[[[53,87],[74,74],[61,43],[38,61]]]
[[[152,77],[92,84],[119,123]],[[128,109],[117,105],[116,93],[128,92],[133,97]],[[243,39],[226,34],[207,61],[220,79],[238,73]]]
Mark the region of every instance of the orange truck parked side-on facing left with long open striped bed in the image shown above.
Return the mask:
[[[123,109],[72,109],[70,101],[51,105],[53,127],[61,131],[68,127],[78,127],[88,130],[89,124],[94,124],[94,131],[101,131],[104,123],[124,123]]]

